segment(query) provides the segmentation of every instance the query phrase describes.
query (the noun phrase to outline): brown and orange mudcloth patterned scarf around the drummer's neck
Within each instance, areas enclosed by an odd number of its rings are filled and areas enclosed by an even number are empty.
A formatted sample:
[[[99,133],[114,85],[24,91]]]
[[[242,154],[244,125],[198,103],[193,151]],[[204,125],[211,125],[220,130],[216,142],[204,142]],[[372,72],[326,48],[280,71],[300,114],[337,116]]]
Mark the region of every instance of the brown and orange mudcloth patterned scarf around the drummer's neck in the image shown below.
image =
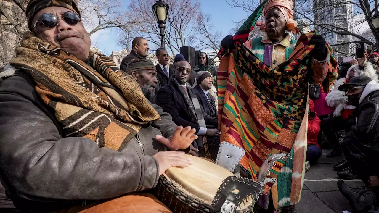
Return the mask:
[[[33,78],[65,137],[121,151],[142,125],[160,119],[138,83],[105,55],[89,52],[88,65],[28,32],[10,64]]]

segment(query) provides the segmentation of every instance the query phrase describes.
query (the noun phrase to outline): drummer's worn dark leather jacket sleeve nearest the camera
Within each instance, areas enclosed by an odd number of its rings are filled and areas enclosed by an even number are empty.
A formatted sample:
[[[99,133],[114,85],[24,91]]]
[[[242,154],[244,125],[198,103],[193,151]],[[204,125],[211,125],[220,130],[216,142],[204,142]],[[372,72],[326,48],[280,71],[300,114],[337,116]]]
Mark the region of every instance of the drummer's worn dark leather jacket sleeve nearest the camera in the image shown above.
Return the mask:
[[[120,153],[86,138],[62,138],[25,75],[0,83],[0,178],[13,197],[96,200],[153,188],[154,157]]]

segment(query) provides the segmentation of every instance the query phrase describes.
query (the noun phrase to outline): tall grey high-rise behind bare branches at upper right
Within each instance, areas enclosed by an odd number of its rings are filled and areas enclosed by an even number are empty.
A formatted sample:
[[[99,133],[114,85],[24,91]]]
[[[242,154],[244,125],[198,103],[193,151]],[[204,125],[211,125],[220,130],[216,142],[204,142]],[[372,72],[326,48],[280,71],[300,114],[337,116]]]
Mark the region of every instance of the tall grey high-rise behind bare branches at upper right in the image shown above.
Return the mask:
[[[333,4],[334,0],[313,0],[314,20],[318,24],[328,24],[325,27],[334,30],[336,32],[344,32],[346,29],[353,32],[353,20],[352,20],[352,4],[349,0],[338,0],[338,4]],[[329,6],[330,5],[330,6]],[[332,25],[332,26],[330,26]],[[335,26],[335,27],[333,27]],[[330,44],[343,44],[346,42],[355,41],[354,36],[342,35],[334,33],[320,26],[315,26],[316,31],[323,35],[325,40]],[[354,44],[343,44],[334,46],[335,50],[343,53],[353,54],[355,53]],[[338,60],[341,60],[345,55],[334,52],[333,55]]]

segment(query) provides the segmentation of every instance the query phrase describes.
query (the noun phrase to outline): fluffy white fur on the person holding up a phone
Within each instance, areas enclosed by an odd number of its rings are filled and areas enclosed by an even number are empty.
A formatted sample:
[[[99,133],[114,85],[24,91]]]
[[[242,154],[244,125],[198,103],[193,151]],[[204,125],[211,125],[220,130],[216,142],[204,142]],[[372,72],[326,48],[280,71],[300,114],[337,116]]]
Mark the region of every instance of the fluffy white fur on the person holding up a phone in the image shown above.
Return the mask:
[[[367,76],[367,77],[370,77],[376,83],[378,82],[378,75],[377,75],[377,73],[376,73],[376,71],[375,71],[375,69],[374,69],[374,67],[370,61],[365,62],[363,70],[359,69],[358,64],[351,66],[348,69],[348,72],[347,72],[345,78],[340,78],[339,80],[334,82],[334,89],[332,89],[332,91],[330,91],[329,94],[327,94],[327,96],[325,98],[326,103],[329,107],[335,107],[333,116],[340,116],[341,111],[343,109],[353,107],[353,106],[348,106],[346,104],[348,102],[348,97],[345,95],[345,92],[338,90],[338,86],[345,83],[345,81],[348,79],[349,73],[352,71],[356,72],[354,77],[356,77],[356,76]]]

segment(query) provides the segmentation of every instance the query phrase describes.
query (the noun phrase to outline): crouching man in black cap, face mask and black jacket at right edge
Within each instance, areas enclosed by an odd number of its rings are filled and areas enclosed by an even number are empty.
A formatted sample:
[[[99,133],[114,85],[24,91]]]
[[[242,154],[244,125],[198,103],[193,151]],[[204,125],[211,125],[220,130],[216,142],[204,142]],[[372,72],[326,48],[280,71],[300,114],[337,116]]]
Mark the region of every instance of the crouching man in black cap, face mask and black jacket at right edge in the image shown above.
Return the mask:
[[[376,202],[379,186],[379,84],[366,76],[357,76],[338,90],[347,93],[348,101],[357,107],[354,114],[357,125],[346,135],[342,149],[354,173],[369,187],[362,192],[349,187],[343,180],[337,182],[341,193],[357,212],[370,210]]]

